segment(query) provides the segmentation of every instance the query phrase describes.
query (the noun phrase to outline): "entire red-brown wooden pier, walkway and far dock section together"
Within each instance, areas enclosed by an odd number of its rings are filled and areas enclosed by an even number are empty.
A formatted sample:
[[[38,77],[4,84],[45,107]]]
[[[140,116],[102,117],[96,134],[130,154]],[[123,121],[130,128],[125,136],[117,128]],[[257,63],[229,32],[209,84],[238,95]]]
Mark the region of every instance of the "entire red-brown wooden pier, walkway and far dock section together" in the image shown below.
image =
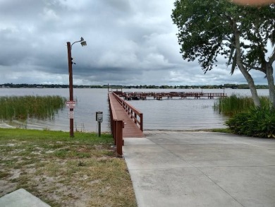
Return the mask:
[[[144,137],[143,134],[143,114],[135,109],[126,100],[146,100],[147,98],[154,98],[162,100],[163,98],[173,99],[194,97],[199,99],[207,97],[212,99],[214,97],[226,97],[224,93],[197,93],[197,92],[123,92],[114,91],[109,92],[109,108],[111,118],[111,133],[114,137],[116,145],[116,152],[122,156],[122,146],[124,144],[123,138],[130,137]],[[123,100],[124,99],[124,100]]]

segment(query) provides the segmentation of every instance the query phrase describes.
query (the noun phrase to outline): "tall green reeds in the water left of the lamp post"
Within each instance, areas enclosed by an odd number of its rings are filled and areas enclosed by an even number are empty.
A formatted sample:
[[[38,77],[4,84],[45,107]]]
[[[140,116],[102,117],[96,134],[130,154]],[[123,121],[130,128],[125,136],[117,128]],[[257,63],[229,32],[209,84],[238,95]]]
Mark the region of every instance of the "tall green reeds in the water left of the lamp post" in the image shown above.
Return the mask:
[[[65,107],[65,102],[66,98],[59,95],[0,97],[0,119],[54,119],[54,114]]]

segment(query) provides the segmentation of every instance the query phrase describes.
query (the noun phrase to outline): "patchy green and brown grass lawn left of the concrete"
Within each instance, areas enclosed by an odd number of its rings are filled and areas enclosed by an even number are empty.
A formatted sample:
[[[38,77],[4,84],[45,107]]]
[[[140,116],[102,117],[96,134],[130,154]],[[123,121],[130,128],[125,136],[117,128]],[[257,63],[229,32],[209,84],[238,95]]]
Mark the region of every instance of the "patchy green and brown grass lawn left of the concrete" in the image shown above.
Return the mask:
[[[0,197],[24,188],[50,206],[137,206],[110,134],[0,129]]]

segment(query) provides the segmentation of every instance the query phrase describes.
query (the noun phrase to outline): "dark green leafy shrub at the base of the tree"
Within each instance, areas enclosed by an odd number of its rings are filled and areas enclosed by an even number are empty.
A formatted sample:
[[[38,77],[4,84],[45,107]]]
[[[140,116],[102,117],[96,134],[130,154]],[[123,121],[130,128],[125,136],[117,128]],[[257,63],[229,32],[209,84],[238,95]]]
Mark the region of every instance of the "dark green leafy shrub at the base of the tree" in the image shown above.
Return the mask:
[[[275,110],[269,107],[250,108],[229,118],[226,126],[234,134],[275,138]]]

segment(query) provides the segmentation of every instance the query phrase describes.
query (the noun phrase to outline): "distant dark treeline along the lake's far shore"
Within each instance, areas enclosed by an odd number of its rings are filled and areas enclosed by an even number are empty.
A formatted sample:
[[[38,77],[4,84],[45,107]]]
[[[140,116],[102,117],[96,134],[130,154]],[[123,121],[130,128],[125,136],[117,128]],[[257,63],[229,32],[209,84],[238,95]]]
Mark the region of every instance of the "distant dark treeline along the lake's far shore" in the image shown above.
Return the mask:
[[[68,88],[68,85],[60,84],[0,84],[0,88]],[[188,89],[188,88],[233,88],[233,89],[249,89],[247,84],[230,84],[224,85],[73,85],[73,88],[165,88],[165,89]],[[267,89],[268,85],[256,85],[257,89]]]

